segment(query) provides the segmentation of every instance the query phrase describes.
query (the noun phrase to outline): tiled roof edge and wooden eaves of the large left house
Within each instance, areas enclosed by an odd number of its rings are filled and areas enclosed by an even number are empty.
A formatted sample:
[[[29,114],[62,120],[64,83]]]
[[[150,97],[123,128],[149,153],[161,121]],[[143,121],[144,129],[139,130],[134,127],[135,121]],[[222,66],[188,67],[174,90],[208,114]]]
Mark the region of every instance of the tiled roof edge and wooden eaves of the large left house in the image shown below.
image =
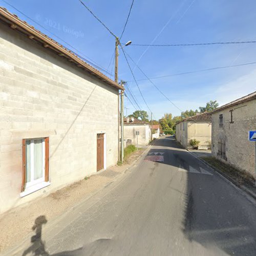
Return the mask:
[[[124,90],[123,87],[119,86],[118,83],[116,83],[109,77],[105,76],[97,69],[90,66],[87,62],[83,61],[72,51],[63,47],[57,41],[53,40],[49,36],[41,33],[39,30],[35,29],[33,26],[29,25],[24,20],[19,19],[17,15],[10,13],[7,9],[3,7],[0,7],[0,22],[7,24],[10,27],[10,29],[13,29],[17,32],[21,32],[22,34],[28,36],[31,40],[39,43],[42,47],[51,49],[59,56],[66,57],[69,61],[74,62],[78,67],[82,68],[83,70],[86,70],[92,75],[95,75],[97,78],[110,84],[112,87]]]

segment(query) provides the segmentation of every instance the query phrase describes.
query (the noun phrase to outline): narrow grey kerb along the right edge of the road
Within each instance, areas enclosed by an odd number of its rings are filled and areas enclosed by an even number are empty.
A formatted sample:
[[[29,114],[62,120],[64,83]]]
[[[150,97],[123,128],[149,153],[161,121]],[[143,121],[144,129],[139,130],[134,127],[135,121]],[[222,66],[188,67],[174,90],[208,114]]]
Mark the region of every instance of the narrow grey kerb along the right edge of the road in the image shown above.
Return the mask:
[[[216,172],[220,177],[222,177],[225,181],[227,181],[229,184],[231,184],[233,187],[236,187],[237,189],[239,189],[241,192],[245,191],[249,196],[251,196],[253,199],[256,200],[256,194],[253,193],[250,189],[248,189],[247,187],[245,187],[244,185],[240,185],[237,181],[233,180],[232,178],[230,178],[229,176],[227,176],[225,173],[222,173],[219,169],[212,167],[210,164],[208,164],[205,160],[201,159],[200,157],[198,157],[196,154],[194,154],[193,152],[187,150],[187,152],[189,152],[191,155],[193,155],[195,158],[197,158],[199,161],[201,161],[202,163],[204,163],[205,165],[207,165],[208,168],[210,168],[212,171]],[[243,191],[242,191],[243,190]],[[243,193],[244,194],[244,193]],[[247,196],[247,195],[245,195]]]

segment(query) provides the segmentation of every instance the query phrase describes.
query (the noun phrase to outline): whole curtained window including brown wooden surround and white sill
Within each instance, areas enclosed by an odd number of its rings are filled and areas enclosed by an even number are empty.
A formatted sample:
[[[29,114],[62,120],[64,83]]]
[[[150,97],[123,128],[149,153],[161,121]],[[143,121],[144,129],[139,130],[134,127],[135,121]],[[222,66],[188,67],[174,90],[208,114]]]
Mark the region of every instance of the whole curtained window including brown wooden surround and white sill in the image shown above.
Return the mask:
[[[49,138],[24,139],[22,191],[45,181],[49,181]]]

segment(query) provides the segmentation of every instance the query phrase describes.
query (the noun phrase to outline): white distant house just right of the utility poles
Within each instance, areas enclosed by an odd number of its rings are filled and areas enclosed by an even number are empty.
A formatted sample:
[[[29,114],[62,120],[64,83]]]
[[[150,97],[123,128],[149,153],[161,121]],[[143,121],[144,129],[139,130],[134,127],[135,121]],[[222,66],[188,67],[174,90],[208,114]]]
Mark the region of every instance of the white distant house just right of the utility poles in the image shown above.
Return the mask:
[[[136,132],[139,132],[138,145],[147,145],[150,142],[151,129],[149,123],[136,118],[124,118],[123,138],[125,140],[132,140],[132,144],[137,145]]]

